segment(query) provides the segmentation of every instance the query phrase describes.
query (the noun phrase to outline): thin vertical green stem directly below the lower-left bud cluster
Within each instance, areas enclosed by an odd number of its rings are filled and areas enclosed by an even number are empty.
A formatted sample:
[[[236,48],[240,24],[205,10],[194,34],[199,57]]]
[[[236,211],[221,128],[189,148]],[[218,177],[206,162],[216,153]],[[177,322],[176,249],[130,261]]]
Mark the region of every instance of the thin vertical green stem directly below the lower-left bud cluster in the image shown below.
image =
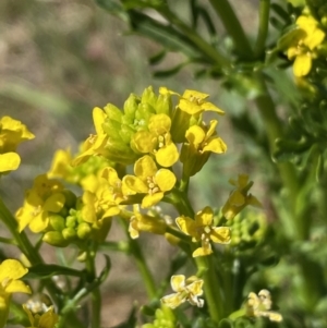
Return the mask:
[[[95,259],[97,255],[97,243],[93,242],[88,250],[87,250],[87,257],[86,257],[86,270],[88,274],[89,281],[95,280],[96,278],[96,266]],[[98,328],[100,327],[101,323],[101,293],[99,288],[95,288],[90,293],[90,302],[92,302],[92,319],[90,319],[90,327]]]

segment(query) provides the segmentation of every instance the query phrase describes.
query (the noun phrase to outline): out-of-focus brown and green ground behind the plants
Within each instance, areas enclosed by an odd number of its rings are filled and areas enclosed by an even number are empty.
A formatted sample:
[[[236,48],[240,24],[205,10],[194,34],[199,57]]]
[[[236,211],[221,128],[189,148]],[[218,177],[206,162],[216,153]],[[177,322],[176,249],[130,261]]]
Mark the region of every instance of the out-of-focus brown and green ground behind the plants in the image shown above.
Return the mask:
[[[185,1],[174,3],[186,17]],[[253,31],[257,1],[232,3],[245,31]],[[253,193],[265,192],[265,177],[259,173],[265,173],[265,163],[246,161],[246,154],[253,158],[257,150],[230,129],[229,114],[238,116],[245,106],[251,110],[251,104],[220,89],[217,82],[195,80],[190,68],[173,77],[153,78],[148,58],[159,50],[155,42],[130,35],[123,22],[92,0],[0,1],[0,117],[22,121],[36,135],[19,148],[20,169],[0,181],[0,196],[12,211],[22,206],[24,190],[32,186],[33,179],[49,170],[57,149],[70,147],[75,153],[78,144],[94,132],[95,106],[112,102],[121,108],[130,93],[142,94],[149,85],[156,92],[165,85],[179,93],[186,88],[208,93],[210,101],[226,110],[227,114],[219,118],[218,133],[226,141],[228,153],[213,156],[206,169],[192,180],[192,185],[196,185],[196,195],[191,195],[196,210],[206,205],[222,206],[231,190],[228,180],[238,173],[256,171]],[[169,54],[159,69],[178,64],[181,56]],[[109,239],[120,238],[122,233],[113,227]],[[162,264],[173,250],[159,236],[142,235],[141,240],[159,279],[165,275]],[[44,252],[48,254],[47,262],[56,262],[52,248],[44,247]],[[145,297],[131,259],[121,254],[110,257],[112,271],[104,290],[104,327],[118,325],[133,302],[142,304]]]

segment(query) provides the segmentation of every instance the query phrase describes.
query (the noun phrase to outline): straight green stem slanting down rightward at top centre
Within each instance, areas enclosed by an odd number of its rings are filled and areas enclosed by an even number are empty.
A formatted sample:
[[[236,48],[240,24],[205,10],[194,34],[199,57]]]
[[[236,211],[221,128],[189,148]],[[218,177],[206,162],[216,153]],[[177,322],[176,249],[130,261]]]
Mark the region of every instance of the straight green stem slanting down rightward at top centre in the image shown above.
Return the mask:
[[[173,12],[169,9],[161,10],[160,13],[173,25],[175,25],[185,37],[187,37],[197,49],[201,49],[203,53],[205,53],[208,58],[210,58],[214,62],[219,64],[220,66],[230,66],[230,61],[222,56],[217,49],[211,47],[208,42],[204,40],[198,34],[195,33],[193,28],[183,23]]]

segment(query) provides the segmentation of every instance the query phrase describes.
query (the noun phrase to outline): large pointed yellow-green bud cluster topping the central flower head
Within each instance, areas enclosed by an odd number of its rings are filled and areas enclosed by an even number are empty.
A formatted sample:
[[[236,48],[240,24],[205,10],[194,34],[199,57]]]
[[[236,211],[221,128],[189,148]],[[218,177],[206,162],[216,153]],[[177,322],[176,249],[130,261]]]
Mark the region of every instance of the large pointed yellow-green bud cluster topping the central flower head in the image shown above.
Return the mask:
[[[147,131],[148,121],[154,114],[171,117],[172,102],[170,95],[157,96],[149,86],[142,97],[131,94],[124,102],[123,111],[108,104],[105,112],[107,118],[102,127],[108,135],[106,157],[114,162],[131,165],[142,156],[131,147],[132,136],[138,131]]]

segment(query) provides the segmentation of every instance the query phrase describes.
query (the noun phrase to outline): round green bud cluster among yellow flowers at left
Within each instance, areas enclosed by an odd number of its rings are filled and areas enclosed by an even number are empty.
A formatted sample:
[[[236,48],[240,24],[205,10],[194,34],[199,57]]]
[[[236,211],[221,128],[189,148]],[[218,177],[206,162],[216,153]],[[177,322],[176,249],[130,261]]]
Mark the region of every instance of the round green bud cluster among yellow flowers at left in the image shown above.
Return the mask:
[[[49,231],[43,241],[58,247],[65,247],[70,243],[88,239],[93,233],[92,224],[82,218],[80,199],[75,201],[66,215],[58,214],[49,217]]]

